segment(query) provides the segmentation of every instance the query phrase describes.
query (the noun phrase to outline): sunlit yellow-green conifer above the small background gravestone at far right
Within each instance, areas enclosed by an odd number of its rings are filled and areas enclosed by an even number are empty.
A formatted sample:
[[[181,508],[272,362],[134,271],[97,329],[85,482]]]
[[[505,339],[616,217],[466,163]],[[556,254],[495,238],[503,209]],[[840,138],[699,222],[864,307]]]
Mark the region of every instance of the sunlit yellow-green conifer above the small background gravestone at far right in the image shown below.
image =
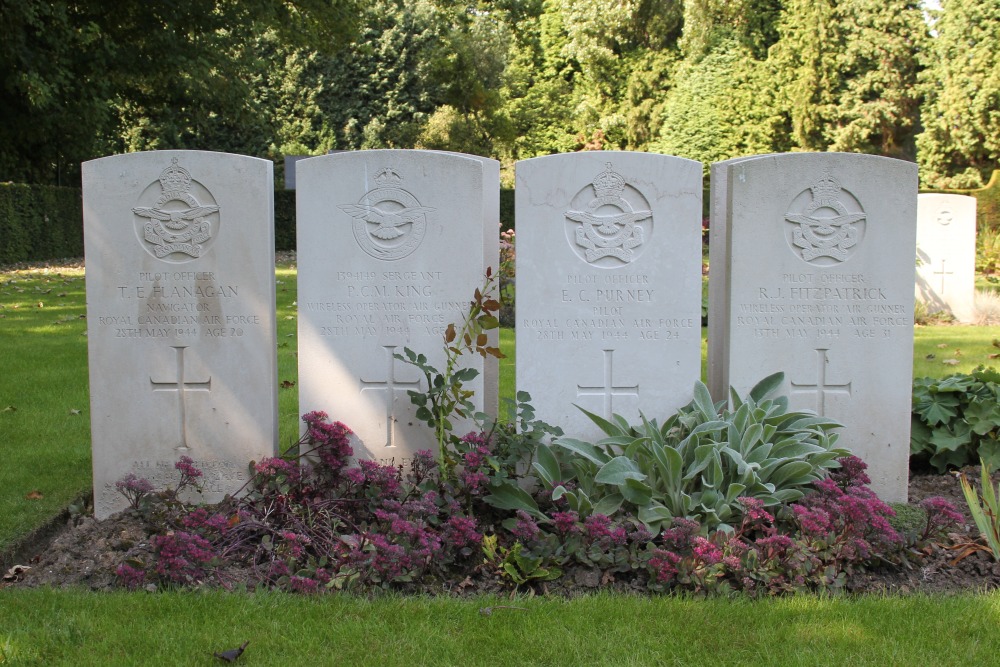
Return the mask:
[[[917,137],[920,178],[980,187],[1000,169],[1000,0],[944,0]]]

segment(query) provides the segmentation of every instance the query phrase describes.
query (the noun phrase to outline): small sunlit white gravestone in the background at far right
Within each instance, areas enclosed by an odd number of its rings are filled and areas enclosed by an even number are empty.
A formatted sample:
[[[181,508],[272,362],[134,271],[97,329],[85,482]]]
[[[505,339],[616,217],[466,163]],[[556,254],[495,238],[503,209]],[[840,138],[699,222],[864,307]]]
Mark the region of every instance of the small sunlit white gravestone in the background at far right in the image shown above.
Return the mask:
[[[975,319],[976,198],[931,194],[917,201],[917,299],[959,322]]]

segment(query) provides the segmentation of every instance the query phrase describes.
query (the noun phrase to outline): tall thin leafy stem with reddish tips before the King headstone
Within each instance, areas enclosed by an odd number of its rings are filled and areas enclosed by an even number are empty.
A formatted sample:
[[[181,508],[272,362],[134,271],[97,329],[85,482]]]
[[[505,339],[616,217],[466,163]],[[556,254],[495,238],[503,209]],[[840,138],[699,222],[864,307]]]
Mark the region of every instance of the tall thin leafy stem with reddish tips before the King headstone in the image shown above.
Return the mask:
[[[443,470],[451,470],[456,463],[448,447],[458,440],[451,420],[455,417],[470,417],[474,411],[471,400],[473,392],[466,388],[466,384],[474,380],[479,371],[475,368],[460,368],[462,356],[466,353],[479,354],[483,358],[492,356],[502,359],[504,356],[500,348],[489,344],[486,333],[500,326],[496,317],[500,310],[500,302],[494,294],[496,288],[497,277],[487,268],[486,281],[482,289],[476,289],[461,330],[456,329],[454,323],[449,324],[445,330],[444,370],[438,370],[428,362],[426,355],[418,354],[410,348],[404,348],[403,354],[394,355],[396,359],[416,367],[427,383],[427,391],[410,390],[407,393],[410,401],[417,406],[417,419],[434,430]]]

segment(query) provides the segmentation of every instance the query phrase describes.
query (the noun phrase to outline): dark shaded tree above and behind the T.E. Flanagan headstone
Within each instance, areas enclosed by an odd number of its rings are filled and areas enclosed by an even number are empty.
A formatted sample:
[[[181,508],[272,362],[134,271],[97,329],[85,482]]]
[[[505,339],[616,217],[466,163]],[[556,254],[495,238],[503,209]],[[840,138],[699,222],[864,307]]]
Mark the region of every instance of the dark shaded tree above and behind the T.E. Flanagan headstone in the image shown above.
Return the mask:
[[[0,180],[72,181],[110,151],[249,151],[258,35],[334,48],[362,1],[5,1]]]

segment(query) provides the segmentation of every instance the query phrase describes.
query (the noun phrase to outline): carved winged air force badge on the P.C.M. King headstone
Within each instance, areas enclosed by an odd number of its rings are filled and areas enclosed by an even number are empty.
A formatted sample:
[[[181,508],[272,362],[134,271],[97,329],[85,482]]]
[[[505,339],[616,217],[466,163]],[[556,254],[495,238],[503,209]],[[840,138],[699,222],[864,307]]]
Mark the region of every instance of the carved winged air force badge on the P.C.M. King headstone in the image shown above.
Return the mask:
[[[357,204],[340,207],[354,219],[358,245],[376,259],[402,259],[416,250],[427,232],[427,214],[435,210],[421,206],[402,184],[399,172],[386,167]]]

